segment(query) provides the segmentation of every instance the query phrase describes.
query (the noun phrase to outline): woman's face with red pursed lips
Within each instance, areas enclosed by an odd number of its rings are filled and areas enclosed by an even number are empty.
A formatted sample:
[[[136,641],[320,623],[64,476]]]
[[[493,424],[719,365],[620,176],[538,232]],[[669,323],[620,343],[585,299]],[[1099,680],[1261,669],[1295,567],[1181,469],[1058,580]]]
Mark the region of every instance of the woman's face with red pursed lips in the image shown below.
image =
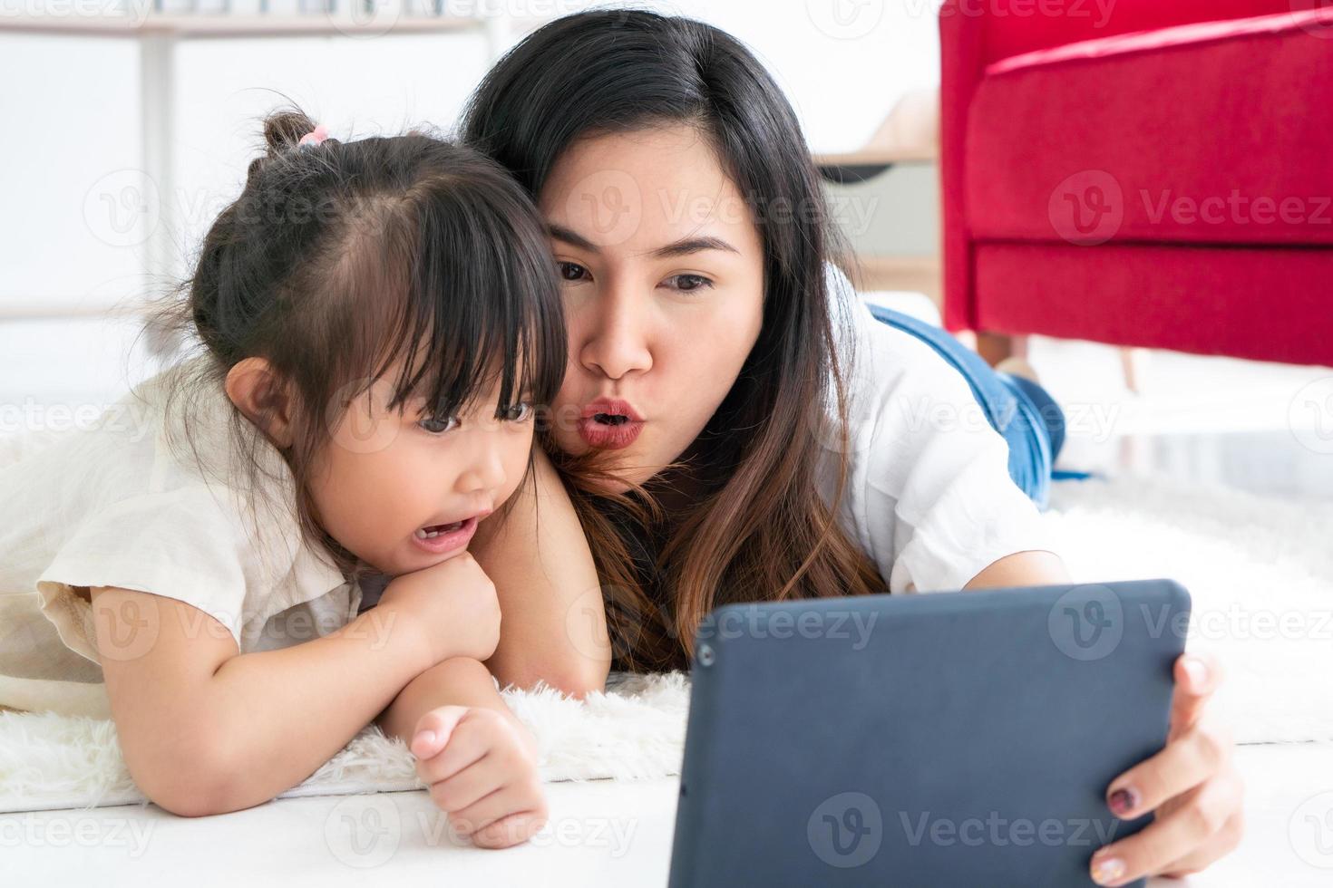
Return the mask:
[[[704,430],[758,338],[758,230],[684,125],[576,142],[539,202],[569,330],[556,443],[613,450],[617,475],[644,482]]]

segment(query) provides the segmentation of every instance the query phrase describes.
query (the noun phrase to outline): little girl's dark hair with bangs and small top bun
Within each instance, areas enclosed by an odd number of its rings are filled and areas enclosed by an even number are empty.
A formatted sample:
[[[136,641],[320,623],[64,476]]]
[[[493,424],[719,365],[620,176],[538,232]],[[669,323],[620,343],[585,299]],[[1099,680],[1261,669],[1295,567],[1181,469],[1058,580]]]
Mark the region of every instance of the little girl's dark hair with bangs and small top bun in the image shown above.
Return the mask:
[[[264,154],[147,329],[207,355],[180,363],[192,370],[173,401],[191,401],[193,386],[221,390],[245,358],[269,362],[295,395],[293,442],[279,450],[301,535],[361,576],[369,567],[320,526],[307,493],[348,402],[401,361],[389,403],[400,413],[423,395],[451,415],[497,373],[497,407],[528,389],[549,403],[565,370],[564,314],[537,210],[492,160],[425,129],[299,146],[313,128],[296,109],[264,121]],[[255,434],[269,418],[229,417],[252,482],[260,449],[276,445]]]

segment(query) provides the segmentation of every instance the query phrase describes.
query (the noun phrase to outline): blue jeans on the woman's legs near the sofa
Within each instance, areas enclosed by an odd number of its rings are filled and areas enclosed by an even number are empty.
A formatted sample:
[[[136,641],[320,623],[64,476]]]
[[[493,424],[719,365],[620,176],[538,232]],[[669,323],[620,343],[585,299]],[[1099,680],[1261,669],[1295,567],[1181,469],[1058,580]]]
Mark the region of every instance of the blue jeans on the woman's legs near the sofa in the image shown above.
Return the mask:
[[[878,305],[869,309],[876,320],[924,341],[962,374],[992,427],[1009,442],[1009,477],[1045,510],[1052,470],[1065,443],[1065,414],[1056,399],[1030,379],[997,373],[942,328]]]

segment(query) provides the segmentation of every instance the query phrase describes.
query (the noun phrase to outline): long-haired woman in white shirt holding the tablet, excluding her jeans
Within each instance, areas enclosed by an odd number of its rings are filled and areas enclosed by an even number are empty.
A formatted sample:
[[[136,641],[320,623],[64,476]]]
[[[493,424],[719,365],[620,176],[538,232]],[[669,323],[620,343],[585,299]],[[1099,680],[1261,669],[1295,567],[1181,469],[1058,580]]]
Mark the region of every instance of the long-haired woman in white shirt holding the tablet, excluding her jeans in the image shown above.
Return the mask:
[[[836,285],[796,117],[730,36],[561,19],[485,77],[463,137],[537,200],[569,324],[541,429],[560,474],[543,463],[476,542],[501,682],[583,694],[611,667],[686,667],[726,602],[1070,582],[964,375]],[[1098,851],[1102,884],[1237,843],[1217,676],[1177,663],[1166,748],[1108,789],[1157,819]]]

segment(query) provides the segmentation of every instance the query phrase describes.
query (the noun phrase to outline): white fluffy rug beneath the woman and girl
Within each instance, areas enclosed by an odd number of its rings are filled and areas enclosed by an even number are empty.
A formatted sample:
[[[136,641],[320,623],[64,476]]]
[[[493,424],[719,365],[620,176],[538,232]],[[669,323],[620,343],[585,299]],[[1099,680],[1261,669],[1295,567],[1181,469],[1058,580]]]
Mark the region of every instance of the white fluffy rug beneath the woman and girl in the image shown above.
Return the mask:
[[[1076,579],[1173,576],[1194,602],[1192,648],[1229,671],[1220,700],[1245,743],[1333,740],[1333,505],[1298,505],[1164,478],[1061,482],[1046,521]],[[547,780],[678,772],[682,674],[615,675],[587,702],[507,691]],[[363,730],[288,796],[420,787],[412,755]],[[111,722],[0,712],[0,812],[143,803]]]

